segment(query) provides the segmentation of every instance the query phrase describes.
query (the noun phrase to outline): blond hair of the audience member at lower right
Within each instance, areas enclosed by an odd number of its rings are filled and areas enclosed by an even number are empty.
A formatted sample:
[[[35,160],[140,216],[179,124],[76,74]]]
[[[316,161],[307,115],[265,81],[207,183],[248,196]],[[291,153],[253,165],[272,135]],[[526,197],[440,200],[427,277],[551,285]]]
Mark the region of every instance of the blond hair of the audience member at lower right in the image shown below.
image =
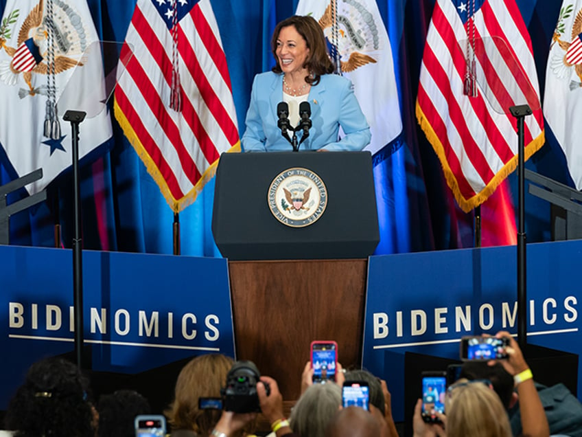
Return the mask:
[[[512,436],[509,418],[499,396],[480,381],[460,381],[452,385],[445,411],[447,437]]]

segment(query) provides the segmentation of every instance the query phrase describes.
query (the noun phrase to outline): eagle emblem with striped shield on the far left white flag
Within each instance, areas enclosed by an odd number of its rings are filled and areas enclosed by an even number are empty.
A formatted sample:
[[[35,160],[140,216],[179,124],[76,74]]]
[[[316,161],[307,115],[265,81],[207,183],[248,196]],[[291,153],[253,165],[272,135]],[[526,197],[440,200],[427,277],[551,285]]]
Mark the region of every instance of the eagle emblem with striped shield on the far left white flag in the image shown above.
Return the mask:
[[[35,87],[33,74],[49,74],[49,50],[53,51],[54,56],[54,70],[51,73],[57,75],[82,65],[80,56],[88,46],[88,30],[80,15],[70,5],[58,0],[49,1],[54,3],[52,13],[47,14],[45,0],[40,0],[23,21],[14,47],[10,46],[5,33],[0,34],[0,51],[4,49],[10,56],[10,60],[0,62],[0,80],[14,86],[22,75],[28,89],[19,91],[21,98],[47,94],[44,83]],[[54,35],[53,44],[49,44],[49,30]]]

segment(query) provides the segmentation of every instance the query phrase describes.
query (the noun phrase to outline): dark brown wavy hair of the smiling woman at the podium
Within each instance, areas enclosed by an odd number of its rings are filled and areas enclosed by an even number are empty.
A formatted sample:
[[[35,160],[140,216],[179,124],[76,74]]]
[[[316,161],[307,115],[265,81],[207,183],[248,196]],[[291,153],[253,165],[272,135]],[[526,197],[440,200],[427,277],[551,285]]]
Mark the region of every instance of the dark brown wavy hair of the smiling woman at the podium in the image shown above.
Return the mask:
[[[325,44],[323,30],[312,16],[294,15],[277,24],[271,38],[272,54],[275,56],[276,62],[275,67],[272,67],[272,71],[275,73],[283,72],[281,70],[281,65],[279,64],[279,58],[277,58],[277,38],[279,38],[281,29],[288,26],[295,27],[297,33],[299,33],[305,40],[305,43],[307,43],[307,48],[310,49],[310,53],[307,55],[307,59],[305,59],[305,64],[303,64],[303,67],[310,72],[310,76],[305,78],[305,82],[310,85],[317,85],[321,76],[323,74],[333,73],[335,67],[327,53],[327,45]]]

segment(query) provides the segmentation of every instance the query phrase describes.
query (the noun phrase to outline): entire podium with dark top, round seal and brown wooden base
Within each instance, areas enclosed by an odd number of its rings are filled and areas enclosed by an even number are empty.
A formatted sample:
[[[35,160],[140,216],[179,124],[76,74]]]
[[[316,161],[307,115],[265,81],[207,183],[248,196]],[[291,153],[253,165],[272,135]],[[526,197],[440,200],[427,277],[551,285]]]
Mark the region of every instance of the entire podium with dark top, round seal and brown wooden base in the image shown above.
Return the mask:
[[[318,182],[309,201],[307,186],[299,203],[275,196],[274,185],[294,191],[292,169]],[[305,225],[299,213],[312,202],[325,208]],[[296,226],[271,211],[281,204],[301,206]],[[212,231],[229,258],[237,359],[277,379],[286,408],[299,398],[312,340],[336,340],[344,366],[361,363],[366,258],[380,240],[369,153],[225,153]]]

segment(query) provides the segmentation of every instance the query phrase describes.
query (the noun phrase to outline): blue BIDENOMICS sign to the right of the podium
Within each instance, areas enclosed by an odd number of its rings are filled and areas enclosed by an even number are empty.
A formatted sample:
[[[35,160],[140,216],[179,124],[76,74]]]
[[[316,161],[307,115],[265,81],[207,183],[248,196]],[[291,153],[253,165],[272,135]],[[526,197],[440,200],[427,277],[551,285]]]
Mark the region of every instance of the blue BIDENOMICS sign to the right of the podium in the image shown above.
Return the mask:
[[[581,354],[582,241],[527,250],[528,343]],[[371,257],[362,365],[404,396],[405,352],[458,359],[463,335],[516,334],[516,263],[515,246]]]

